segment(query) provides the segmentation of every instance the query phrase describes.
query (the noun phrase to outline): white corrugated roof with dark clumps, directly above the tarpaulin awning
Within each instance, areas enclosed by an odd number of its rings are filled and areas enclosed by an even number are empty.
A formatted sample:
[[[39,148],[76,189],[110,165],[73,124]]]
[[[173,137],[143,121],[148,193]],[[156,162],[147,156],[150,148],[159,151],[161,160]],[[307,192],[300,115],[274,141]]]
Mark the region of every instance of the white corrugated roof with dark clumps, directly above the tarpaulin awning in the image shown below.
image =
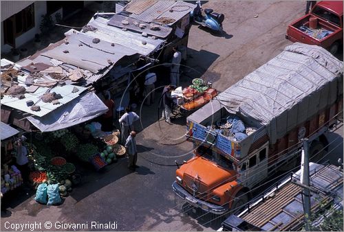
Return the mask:
[[[76,87],[79,89],[78,92],[72,93],[73,88]],[[27,113],[30,113],[32,115],[36,115],[39,117],[42,117],[43,115],[46,115],[47,113],[50,113],[54,111],[56,108],[63,106],[63,104],[66,104],[67,102],[70,102],[71,100],[75,99],[80,95],[80,93],[83,93],[87,88],[81,87],[81,86],[74,86],[74,85],[65,85],[65,86],[56,86],[50,90],[50,93],[55,92],[56,94],[61,94],[62,98],[58,100],[60,104],[53,105],[52,103],[45,103],[41,99],[41,95],[43,93],[47,92],[49,88],[47,87],[40,87],[37,89],[34,93],[25,93],[25,98],[19,100],[17,97],[11,97],[10,95],[3,96],[3,99],[1,100],[1,104],[4,104],[6,106],[10,106],[12,108],[16,108],[17,110],[24,111]],[[26,102],[28,100],[32,100],[33,102],[38,102],[36,106],[41,107],[41,111],[31,111],[30,106],[26,105]]]

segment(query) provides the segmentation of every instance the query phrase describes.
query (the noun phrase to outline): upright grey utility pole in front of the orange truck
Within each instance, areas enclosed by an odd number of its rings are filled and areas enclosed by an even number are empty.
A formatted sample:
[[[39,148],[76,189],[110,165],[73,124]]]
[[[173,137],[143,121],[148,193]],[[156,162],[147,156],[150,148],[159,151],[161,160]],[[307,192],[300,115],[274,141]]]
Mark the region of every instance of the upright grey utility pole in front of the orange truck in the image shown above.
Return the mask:
[[[303,139],[303,149],[301,154],[301,184],[310,186],[310,161],[309,161],[308,139]],[[310,189],[303,188],[303,211],[305,215],[305,231],[310,231]]]

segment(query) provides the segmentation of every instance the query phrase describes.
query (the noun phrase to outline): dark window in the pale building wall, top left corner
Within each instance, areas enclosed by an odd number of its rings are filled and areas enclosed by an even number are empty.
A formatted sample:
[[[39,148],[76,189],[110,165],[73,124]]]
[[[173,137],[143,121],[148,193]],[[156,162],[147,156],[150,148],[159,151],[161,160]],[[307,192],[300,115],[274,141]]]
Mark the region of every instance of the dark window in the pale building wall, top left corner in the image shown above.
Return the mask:
[[[15,38],[34,27],[34,3],[3,21],[4,43],[15,47]]]

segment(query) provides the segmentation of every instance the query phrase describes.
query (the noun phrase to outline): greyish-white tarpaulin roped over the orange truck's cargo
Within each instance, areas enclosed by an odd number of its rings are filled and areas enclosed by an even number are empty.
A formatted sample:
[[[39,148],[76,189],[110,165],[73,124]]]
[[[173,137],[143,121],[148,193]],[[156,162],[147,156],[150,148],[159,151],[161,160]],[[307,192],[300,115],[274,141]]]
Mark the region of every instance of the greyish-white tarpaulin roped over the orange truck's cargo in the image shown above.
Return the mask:
[[[266,125],[275,143],[338,95],[343,95],[343,62],[322,47],[294,43],[216,99],[229,113]]]

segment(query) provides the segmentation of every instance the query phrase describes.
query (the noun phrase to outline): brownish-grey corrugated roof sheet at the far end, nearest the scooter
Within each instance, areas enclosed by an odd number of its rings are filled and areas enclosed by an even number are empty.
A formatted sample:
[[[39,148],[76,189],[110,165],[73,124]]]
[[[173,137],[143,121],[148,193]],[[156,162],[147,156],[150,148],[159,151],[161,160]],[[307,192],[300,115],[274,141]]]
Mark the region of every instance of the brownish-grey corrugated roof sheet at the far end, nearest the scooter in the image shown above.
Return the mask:
[[[195,4],[184,1],[158,1],[142,13],[131,14],[130,17],[146,23],[151,23],[156,19],[168,18],[174,19],[173,23],[175,23],[186,14],[189,14],[195,7]],[[173,25],[173,23],[169,23],[169,25]]]

